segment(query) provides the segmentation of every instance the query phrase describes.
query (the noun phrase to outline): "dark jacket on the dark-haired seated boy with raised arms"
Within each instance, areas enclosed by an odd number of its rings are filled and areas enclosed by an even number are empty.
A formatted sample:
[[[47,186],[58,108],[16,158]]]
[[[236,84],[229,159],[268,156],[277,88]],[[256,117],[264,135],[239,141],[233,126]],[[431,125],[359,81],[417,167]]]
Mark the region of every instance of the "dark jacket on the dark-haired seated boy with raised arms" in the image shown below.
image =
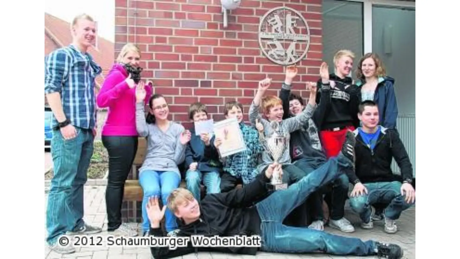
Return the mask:
[[[289,95],[291,94],[291,86],[283,83],[280,91],[280,99],[283,103],[283,119],[292,117],[293,115],[289,112]],[[324,92],[322,95],[321,102],[328,102],[328,88],[323,88]],[[305,105],[304,105],[305,106]],[[323,106],[325,107],[325,106]],[[315,111],[316,113],[316,111]],[[315,165],[320,165],[327,161],[326,155],[322,151],[321,141],[319,138],[318,129],[315,123],[315,117],[311,118],[302,129],[291,132],[290,144],[291,147],[290,155],[293,162],[304,158],[311,161]]]

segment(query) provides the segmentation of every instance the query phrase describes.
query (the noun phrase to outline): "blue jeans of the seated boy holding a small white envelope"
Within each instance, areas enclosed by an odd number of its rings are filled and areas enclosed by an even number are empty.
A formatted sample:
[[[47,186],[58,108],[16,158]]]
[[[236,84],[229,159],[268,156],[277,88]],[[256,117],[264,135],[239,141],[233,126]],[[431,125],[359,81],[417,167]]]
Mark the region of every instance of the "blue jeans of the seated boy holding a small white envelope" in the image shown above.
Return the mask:
[[[220,193],[220,174],[218,172],[204,172],[187,170],[185,182],[187,189],[193,194],[198,203],[201,202],[201,181],[206,186],[207,194]]]

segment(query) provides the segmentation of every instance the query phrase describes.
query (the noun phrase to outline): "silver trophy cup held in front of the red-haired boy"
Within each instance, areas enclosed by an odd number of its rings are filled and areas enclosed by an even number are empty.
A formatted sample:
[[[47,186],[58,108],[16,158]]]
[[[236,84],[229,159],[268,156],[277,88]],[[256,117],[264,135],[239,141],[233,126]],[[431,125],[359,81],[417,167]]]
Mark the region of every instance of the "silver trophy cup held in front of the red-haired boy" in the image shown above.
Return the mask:
[[[270,137],[264,137],[261,135],[262,146],[265,151],[270,154],[273,162],[279,163],[280,158],[288,147],[288,138],[282,133],[282,130],[280,130],[277,122],[271,122],[270,126],[272,127],[274,133]],[[273,171],[271,184],[274,186],[275,190],[288,188],[288,183],[282,182],[280,171]]]

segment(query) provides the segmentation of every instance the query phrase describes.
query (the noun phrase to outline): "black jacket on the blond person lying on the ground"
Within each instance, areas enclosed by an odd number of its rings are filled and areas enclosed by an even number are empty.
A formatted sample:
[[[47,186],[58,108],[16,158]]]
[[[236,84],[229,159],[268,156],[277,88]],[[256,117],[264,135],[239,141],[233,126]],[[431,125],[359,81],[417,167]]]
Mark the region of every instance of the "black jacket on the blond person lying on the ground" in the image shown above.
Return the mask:
[[[260,235],[260,217],[255,203],[269,195],[270,179],[259,174],[241,189],[228,193],[207,194],[201,200],[201,217],[191,224],[181,224],[176,236],[204,235],[212,237]],[[166,236],[160,228],[150,229],[150,235]],[[166,259],[200,251],[255,255],[258,247],[150,247],[155,259]]]

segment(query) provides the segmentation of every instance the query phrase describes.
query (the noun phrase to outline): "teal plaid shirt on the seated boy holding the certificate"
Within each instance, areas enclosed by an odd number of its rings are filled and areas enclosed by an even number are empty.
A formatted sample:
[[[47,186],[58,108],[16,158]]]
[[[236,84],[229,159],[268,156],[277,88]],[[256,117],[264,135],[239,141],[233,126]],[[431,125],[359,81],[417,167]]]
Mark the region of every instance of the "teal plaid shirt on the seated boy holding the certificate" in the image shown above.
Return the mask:
[[[234,177],[241,177],[243,184],[247,184],[259,173],[256,167],[259,165],[263,147],[259,142],[259,132],[256,129],[244,123],[240,123],[240,129],[246,150],[228,156],[224,160],[224,171]]]

